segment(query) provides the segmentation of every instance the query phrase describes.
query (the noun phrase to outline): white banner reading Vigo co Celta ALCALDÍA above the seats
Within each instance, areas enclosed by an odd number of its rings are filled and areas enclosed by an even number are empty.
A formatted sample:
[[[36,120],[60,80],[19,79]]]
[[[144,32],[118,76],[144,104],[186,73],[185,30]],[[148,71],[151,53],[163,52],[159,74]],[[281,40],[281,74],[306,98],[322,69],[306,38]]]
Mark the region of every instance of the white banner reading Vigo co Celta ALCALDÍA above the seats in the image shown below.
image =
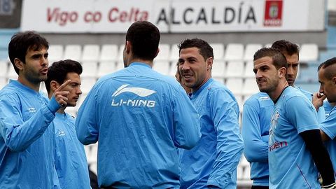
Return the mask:
[[[137,20],[161,32],[322,31],[325,0],[29,0],[22,30],[125,33]],[[314,16],[313,16],[314,15]]]

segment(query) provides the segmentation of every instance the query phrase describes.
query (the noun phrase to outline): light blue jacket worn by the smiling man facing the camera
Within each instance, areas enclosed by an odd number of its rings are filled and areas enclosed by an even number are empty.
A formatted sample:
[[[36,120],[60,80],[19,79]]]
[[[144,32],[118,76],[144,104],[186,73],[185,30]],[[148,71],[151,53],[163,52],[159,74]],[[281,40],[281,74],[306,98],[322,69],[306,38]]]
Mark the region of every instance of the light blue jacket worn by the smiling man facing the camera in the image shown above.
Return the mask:
[[[235,97],[210,78],[190,99],[201,116],[202,138],[193,149],[181,151],[181,188],[237,188],[244,145]]]

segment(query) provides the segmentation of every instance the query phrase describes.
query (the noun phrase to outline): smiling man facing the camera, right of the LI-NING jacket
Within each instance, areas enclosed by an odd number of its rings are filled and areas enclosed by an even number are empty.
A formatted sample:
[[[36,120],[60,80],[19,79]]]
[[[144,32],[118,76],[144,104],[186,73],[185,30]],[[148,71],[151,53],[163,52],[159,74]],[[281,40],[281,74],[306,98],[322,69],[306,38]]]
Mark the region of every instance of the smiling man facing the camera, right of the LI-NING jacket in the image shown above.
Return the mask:
[[[237,165],[243,152],[237,101],[211,78],[214,52],[207,41],[192,38],[179,45],[179,71],[191,88],[190,100],[201,116],[202,138],[181,150],[181,188],[237,188]]]

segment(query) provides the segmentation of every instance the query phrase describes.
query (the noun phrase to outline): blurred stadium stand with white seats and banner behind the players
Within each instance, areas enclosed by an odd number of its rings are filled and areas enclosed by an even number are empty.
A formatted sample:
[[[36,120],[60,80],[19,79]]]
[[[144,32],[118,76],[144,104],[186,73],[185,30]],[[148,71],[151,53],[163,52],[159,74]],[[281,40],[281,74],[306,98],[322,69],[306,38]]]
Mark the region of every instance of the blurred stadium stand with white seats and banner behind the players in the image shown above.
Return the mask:
[[[76,116],[87,92],[101,76],[123,68],[125,33],[132,22],[148,20],[162,36],[153,69],[174,77],[177,45],[202,38],[214,48],[212,76],[239,102],[258,91],[253,54],[286,39],[300,46],[295,85],[318,91],[317,66],[336,56],[336,0],[0,0],[0,88],[16,79],[8,43],[18,31],[34,30],[50,42],[49,62],[75,59],[83,65],[83,94],[66,111]],[[44,83],[41,90],[45,91]],[[97,172],[97,144],[85,146]],[[249,164],[241,158],[238,188],[250,188]]]

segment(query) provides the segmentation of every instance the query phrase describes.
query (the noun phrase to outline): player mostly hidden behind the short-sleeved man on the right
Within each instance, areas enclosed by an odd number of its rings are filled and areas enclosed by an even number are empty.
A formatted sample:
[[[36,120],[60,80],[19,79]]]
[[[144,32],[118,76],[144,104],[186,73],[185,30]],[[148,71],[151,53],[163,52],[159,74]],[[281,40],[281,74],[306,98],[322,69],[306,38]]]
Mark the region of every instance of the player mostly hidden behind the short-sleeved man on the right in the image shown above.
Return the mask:
[[[286,40],[275,41],[273,48],[286,57],[286,80],[288,85],[299,89],[308,99],[313,94],[294,86],[299,66],[299,47]],[[268,134],[273,102],[265,92],[258,92],[244,103],[241,132],[244,138],[244,155],[251,164],[253,189],[268,188]],[[324,109],[318,110],[319,123],[324,120]],[[257,152],[257,153],[256,153]]]

